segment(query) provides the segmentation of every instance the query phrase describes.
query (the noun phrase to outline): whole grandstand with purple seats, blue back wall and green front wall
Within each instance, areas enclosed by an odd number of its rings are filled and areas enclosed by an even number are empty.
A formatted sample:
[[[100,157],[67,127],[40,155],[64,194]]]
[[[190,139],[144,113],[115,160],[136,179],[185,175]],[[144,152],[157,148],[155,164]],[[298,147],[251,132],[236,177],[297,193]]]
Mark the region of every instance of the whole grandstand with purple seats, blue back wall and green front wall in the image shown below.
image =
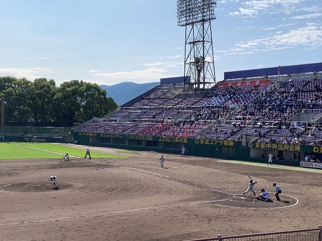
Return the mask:
[[[189,143],[206,149],[204,142],[211,141],[226,143],[212,144],[213,157],[243,159],[236,156],[240,145],[249,147],[248,159],[273,150],[280,160],[285,155],[287,160],[295,155],[322,160],[321,71],[322,63],[225,72],[223,81],[193,92],[185,89],[184,77],[161,79],[159,86],[117,111],[75,128],[74,138],[91,145],[172,152],[185,146],[197,156],[200,151]]]

